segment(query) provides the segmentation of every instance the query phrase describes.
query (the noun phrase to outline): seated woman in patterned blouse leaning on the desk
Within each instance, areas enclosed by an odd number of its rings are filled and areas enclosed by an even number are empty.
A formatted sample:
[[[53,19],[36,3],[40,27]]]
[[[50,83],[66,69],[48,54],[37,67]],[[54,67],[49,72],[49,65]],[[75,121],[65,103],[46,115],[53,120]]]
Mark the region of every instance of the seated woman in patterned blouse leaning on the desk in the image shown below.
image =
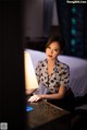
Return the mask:
[[[63,49],[64,43],[61,37],[54,36],[48,40],[46,45],[47,59],[39,61],[36,68],[38,83],[42,84],[42,87],[46,87],[48,91],[46,94],[34,94],[28,102],[47,99],[57,106],[65,106],[61,103],[64,101],[69,90],[70,68],[58,60]]]

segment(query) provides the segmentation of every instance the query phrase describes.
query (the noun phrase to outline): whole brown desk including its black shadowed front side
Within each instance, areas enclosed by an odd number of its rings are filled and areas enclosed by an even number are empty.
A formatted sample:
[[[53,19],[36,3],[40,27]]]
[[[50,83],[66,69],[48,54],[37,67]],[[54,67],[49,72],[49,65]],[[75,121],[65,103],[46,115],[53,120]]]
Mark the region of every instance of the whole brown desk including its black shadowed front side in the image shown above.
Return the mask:
[[[30,130],[70,130],[70,113],[47,102],[27,103],[34,109],[27,113]]]

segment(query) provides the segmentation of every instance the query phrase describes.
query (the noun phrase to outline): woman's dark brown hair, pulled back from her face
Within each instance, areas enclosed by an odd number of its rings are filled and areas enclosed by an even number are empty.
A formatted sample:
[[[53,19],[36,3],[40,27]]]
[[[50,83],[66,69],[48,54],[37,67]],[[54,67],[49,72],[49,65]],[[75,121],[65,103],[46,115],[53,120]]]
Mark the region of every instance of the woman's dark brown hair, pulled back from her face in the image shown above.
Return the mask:
[[[64,50],[64,46],[65,46],[65,45],[64,45],[64,42],[63,42],[63,39],[62,39],[61,36],[52,36],[52,37],[50,37],[50,38],[48,39],[47,44],[46,44],[46,49],[47,49],[47,48],[51,45],[51,43],[53,43],[53,42],[59,43],[61,51]]]

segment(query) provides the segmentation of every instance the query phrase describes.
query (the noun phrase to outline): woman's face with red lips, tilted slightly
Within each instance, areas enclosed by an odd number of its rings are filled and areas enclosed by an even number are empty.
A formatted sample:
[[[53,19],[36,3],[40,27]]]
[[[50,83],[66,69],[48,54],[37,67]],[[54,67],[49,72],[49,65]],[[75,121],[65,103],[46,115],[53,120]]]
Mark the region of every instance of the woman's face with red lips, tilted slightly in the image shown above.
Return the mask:
[[[60,52],[61,52],[61,48],[58,42],[52,42],[46,48],[47,59],[50,59],[50,60],[55,60]]]

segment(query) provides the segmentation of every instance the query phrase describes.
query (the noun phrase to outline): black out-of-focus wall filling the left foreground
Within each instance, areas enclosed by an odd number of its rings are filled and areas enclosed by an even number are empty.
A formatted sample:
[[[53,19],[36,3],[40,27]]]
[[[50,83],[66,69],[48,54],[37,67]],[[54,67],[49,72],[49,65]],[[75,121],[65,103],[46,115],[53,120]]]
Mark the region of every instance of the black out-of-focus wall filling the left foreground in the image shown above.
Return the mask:
[[[0,122],[10,130],[26,130],[23,2],[0,1]]]

